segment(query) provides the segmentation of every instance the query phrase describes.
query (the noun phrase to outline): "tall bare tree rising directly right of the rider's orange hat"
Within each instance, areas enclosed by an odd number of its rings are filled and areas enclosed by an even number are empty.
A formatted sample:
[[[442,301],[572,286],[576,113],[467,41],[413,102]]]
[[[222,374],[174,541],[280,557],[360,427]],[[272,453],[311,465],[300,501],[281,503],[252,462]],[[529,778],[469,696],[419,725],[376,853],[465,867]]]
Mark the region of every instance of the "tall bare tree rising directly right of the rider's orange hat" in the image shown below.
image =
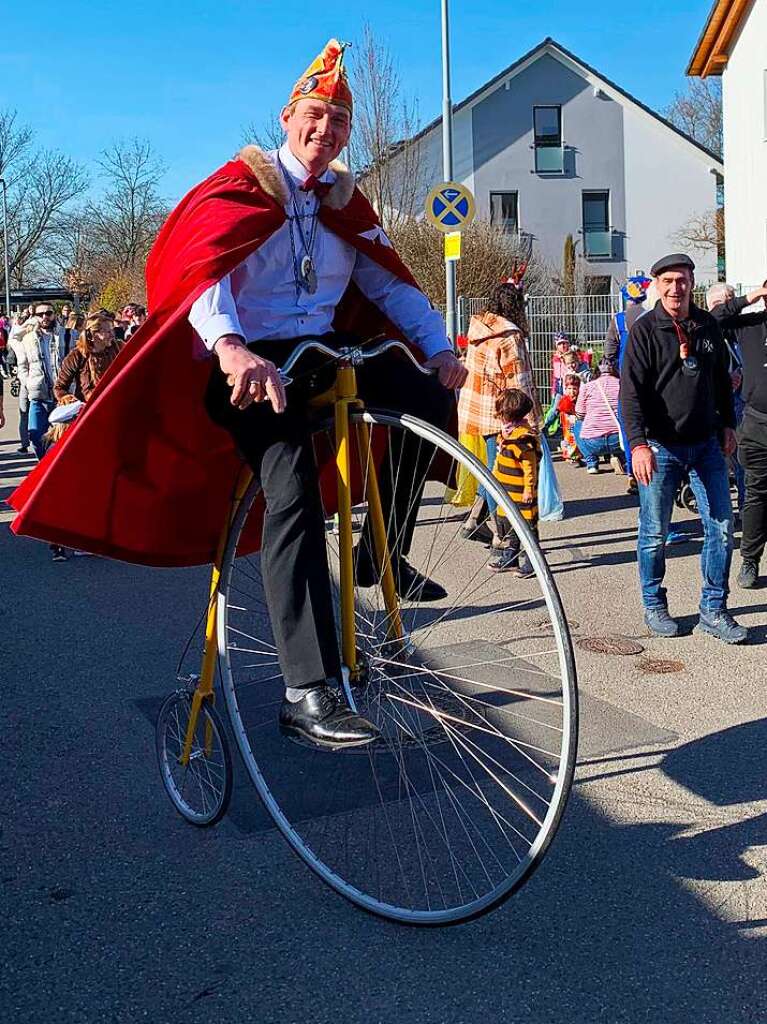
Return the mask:
[[[421,212],[419,201],[429,169],[421,140],[415,138],[417,104],[402,95],[394,58],[370,26],[363,30],[354,51],[351,85],[350,163],[384,229],[392,233]]]

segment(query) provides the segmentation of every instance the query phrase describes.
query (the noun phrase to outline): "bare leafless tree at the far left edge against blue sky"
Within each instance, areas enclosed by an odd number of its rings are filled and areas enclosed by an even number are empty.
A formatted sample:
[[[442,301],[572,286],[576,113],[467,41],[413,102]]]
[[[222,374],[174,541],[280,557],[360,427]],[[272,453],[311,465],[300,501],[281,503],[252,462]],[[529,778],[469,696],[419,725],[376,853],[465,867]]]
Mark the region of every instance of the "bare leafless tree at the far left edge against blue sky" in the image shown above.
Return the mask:
[[[57,221],[86,190],[88,176],[70,157],[36,150],[14,111],[0,112],[0,176],[8,187],[11,283],[29,284],[45,273]]]

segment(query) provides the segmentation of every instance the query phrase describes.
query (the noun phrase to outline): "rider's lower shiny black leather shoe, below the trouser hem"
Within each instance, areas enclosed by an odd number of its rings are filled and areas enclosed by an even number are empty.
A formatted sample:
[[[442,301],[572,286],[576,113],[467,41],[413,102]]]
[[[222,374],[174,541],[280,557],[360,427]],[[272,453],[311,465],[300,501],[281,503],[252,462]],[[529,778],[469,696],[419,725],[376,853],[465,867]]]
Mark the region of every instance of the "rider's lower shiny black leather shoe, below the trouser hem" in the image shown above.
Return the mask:
[[[380,736],[372,722],[355,715],[341,692],[331,686],[314,686],[302,700],[283,700],[280,731],[324,750],[365,746]]]

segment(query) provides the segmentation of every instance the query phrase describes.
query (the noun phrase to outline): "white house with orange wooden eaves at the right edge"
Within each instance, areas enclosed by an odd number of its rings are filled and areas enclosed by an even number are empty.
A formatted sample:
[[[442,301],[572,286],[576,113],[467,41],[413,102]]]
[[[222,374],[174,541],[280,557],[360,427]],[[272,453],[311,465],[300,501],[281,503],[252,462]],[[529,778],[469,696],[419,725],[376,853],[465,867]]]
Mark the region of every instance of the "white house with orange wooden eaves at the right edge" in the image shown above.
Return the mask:
[[[720,75],[727,280],[767,278],[767,0],[716,0],[687,74]]]

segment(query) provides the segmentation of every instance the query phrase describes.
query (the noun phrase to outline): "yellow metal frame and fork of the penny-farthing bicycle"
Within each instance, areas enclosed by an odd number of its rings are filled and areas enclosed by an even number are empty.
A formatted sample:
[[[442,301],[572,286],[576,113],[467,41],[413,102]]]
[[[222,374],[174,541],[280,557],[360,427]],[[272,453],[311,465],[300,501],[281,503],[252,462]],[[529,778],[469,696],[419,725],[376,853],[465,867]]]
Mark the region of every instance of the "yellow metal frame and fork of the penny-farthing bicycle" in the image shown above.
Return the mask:
[[[341,660],[348,670],[352,682],[359,678],[361,667],[357,658],[356,630],[354,625],[354,566],[353,540],[351,520],[351,446],[349,428],[349,410],[361,410],[363,402],[356,392],[356,374],[349,359],[342,359],[336,371],[336,381],[333,388],[312,402],[317,408],[333,406],[335,423],[335,462],[338,487],[338,525],[339,525],[339,557],[340,557],[340,590],[341,590]],[[402,621],[399,612],[399,601],[394,585],[394,573],[391,565],[391,555],[386,539],[381,493],[378,485],[378,475],[374,465],[370,445],[370,429],[367,423],[356,425],[357,450],[360,469],[367,479],[368,516],[370,518],[373,546],[376,561],[381,572],[381,590],[387,613],[387,635],[389,639],[401,640],[403,636]],[[368,466],[363,465],[365,453],[369,453]],[[218,588],[221,580],[221,567],[229,542],[229,534],[240,505],[253,480],[253,471],[244,466],[240,471],[235,496],[229,507],[229,514],[221,530],[210,581],[210,596],[208,614],[205,623],[205,649],[195,692],[191,698],[189,720],[186,724],[183,750],[179,758],[182,765],[189,762],[198,718],[203,701],[215,699],[213,689],[216,660],[218,657]],[[205,753],[210,756],[213,744],[213,729],[210,722],[206,724]]]

